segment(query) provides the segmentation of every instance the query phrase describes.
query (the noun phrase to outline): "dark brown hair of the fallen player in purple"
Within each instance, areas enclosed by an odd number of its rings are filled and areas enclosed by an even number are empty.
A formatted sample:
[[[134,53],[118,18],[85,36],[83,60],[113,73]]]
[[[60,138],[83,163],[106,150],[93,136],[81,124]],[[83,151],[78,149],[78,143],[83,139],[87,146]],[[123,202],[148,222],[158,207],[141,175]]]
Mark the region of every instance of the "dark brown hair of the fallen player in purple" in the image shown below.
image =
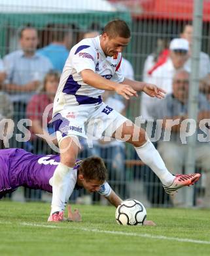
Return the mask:
[[[103,160],[97,156],[91,156],[82,161],[79,167],[84,179],[104,182],[107,180],[107,169]]]

